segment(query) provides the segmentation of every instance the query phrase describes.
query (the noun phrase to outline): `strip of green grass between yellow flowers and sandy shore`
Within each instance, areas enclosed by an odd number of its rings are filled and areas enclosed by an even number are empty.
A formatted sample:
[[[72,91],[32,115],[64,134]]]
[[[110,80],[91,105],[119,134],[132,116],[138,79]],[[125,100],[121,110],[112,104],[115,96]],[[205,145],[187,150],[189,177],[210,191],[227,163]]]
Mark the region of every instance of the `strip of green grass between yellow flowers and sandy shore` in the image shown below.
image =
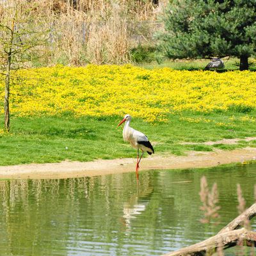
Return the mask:
[[[156,154],[185,155],[188,150],[211,151],[214,148],[232,150],[239,147],[256,147],[256,141],[243,141],[256,136],[255,122],[229,120],[234,113],[182,113],[168,116],[166,124],[148,124],[134,118],[131,126],[147,134]],[[250,115],[255,116],[252,111]],[[191,123],[182,118],[207,118],[211,122]],[[3,116],[0,116],[3,120]],[[20,163],[54,163],[66,159],[91,161],[136,157],[134,150],[122,140],[122,127],[116,128],[122,116],[104,118],[31,117],[11,119],[11,132],[0,133],[0,165]],[[225,125],[216,125],[222,123]],[[204,141],[223,138],[240,138],[237,145],[202,145]],[[182,145],[184,141],[193,145]]]

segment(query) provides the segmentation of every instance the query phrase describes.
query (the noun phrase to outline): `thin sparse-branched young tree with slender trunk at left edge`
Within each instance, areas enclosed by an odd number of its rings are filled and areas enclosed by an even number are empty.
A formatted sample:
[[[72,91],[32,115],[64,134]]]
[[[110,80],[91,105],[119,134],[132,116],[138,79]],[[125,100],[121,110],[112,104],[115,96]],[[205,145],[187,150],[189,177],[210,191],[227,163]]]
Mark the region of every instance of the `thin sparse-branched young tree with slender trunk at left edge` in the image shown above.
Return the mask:
[[[0,3],[0,68],[5,78],[4,127],[7,132],[10,131],[12,70],[24,67],[33,51],[40,50],[40,45],[46,42],[47,31],[35,8],[35,4],[22,0]]]

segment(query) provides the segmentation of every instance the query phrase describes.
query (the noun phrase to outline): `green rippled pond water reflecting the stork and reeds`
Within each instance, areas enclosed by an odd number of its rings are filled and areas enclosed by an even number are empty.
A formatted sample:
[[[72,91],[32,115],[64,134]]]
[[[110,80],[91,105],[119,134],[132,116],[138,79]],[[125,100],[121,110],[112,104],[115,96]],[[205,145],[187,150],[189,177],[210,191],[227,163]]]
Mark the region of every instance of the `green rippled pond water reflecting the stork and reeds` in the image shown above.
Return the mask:
[[[200,223],[200,178],[217,182],[220,224]],[[202,241],[253,204],[256,164],[60,180],[0,180],[0,255],[161,255]],[[256,221],[252,221],[256,228]]]

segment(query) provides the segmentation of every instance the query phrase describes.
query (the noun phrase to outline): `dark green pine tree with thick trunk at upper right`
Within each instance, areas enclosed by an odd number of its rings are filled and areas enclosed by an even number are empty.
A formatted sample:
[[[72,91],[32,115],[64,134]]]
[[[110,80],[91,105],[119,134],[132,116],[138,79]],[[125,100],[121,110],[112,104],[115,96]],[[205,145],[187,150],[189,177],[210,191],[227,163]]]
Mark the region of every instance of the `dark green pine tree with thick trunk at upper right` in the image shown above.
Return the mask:
[[[173,0],[158,38],[171,59],[236,56],[240,70],[256,54],[256,0]]]

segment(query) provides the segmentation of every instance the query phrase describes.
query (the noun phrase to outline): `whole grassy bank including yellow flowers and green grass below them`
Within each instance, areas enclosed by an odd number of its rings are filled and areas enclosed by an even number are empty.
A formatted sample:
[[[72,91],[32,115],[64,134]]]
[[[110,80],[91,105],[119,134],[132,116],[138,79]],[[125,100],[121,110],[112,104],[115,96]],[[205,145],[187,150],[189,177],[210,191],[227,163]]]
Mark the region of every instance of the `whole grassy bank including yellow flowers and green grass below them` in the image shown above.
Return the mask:
[[[116,129],[127,113],[157,154],[254,145],[243,138],[256,136],[255,76],[132,65],[18,70],[12,76],[10,134],[0,127],[0,164],[134,157]],[[0,88],[3,99],[1,79]],[[202,144],[223,138],[241,141]]]

